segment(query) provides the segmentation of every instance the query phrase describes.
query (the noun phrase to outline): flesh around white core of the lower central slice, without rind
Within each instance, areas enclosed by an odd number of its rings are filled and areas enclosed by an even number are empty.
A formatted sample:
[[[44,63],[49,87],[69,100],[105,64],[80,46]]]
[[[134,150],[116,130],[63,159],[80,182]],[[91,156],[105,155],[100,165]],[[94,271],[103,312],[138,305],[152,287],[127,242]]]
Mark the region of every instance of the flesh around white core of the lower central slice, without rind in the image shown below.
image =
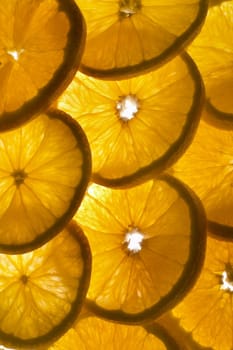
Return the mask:
[[[177,283],[190,254],[190,213],[179,193],[165,182],[120,191],[93,184],[75,218],[91,245],[88,298],[97,305],[141,312]],[[137,254],[124,246],[132,227],[144,235]]]

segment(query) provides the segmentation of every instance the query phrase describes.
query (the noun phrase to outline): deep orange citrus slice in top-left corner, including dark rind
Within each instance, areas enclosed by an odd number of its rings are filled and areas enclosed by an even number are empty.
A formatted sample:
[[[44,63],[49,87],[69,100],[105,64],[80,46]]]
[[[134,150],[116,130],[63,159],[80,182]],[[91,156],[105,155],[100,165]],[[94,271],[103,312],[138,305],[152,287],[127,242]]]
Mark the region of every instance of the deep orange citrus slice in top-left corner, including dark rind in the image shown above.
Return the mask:
[[[85,23],[72,0],[0,3],[0,130],[45,110],[78,69]]]

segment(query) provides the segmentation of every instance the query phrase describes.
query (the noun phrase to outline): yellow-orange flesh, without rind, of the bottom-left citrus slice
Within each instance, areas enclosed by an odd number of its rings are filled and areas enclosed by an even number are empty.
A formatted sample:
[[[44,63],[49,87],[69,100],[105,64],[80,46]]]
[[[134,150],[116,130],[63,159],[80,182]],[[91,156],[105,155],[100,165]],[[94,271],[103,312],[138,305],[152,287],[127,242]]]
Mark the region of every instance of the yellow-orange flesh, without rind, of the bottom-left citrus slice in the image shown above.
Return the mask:
[[[0,254],[0,330],[30,339],[50,332],[77,298],[84,261],[67,230],[21,255]]]

